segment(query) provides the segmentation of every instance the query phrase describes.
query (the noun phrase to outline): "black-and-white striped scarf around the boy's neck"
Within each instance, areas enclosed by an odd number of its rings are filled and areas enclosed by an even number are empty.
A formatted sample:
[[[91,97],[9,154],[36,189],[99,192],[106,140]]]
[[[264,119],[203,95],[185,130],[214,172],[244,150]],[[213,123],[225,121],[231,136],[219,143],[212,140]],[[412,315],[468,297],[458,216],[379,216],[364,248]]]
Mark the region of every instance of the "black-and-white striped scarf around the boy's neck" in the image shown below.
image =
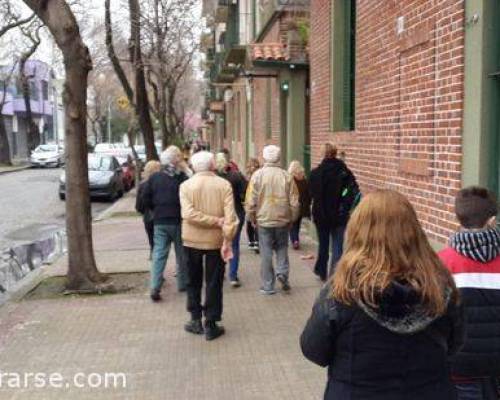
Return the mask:
[[[450,246],[459,254],[474,261],[487,263],[500,255],[500,230],[457,232],[450,238]]]

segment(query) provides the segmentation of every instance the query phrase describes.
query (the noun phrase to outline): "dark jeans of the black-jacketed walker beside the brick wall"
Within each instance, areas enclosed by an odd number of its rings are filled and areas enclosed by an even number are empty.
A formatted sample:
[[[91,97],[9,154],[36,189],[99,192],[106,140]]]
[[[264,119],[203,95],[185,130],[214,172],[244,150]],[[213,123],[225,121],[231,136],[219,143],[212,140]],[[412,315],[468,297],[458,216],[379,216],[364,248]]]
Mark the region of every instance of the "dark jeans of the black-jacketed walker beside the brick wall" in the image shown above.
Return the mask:
[[[337,262],[342,257],[344,247],[345,226],[316,225],[318,232],[318,259],[314,267],[314,272],[321,279],[326,280],[335,270]],[[328,271],[328,259],[330,258],[330,248],[332,256],[330,259],[330,271]]]

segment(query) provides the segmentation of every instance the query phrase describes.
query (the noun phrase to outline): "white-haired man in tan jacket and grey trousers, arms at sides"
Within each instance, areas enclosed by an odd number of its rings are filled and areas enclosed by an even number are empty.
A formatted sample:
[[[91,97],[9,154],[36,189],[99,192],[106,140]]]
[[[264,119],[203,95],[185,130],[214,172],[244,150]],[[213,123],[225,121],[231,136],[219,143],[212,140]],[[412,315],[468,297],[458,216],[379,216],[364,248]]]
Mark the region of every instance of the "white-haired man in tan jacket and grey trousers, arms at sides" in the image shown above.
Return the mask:
[[[290,290],[288,259],[288,231],[299,217],[300,205],[297,186],[292,176],[279,166],[280,148],[264,147],[264,167],[250,180],[247,213],[258,227],[261,253],[262,294],[274,294],[276,279],[283,291]],[[273,267],[276,252],[276,275]]]

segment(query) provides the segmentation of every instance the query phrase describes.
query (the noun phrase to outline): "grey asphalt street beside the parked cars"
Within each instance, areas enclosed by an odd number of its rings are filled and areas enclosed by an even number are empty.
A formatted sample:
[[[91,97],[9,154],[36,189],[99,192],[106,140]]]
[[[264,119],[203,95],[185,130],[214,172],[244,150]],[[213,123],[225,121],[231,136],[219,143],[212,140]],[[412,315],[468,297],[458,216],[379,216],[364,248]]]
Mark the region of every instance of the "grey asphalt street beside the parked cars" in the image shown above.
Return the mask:
[[[65,203],[59,200],[61,169],[28,169],[0,175],[0,249],[31,242],[64,227]],[[95,217],[109,202],[93,202]]]

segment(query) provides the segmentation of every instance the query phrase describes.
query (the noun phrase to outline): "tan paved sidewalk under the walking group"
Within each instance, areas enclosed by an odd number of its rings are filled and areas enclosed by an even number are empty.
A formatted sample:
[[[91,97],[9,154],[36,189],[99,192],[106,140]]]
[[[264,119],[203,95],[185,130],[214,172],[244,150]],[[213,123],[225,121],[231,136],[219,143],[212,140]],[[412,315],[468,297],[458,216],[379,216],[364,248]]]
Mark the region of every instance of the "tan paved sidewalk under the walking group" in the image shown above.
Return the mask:
[[[126,212],[124,199],[118,215]],[[131,211],[131,210],[129,210]],[[95,225],[96,258],[103,272],[147,271],[149,250],[139,217]],[[312,249],[306,244],[306,249]],[[225,282],[224,337],[206,342],[183,330],[185,294],[175,291],[173,257],[167,265],[164,301],[147,291],[113,296],[24,300],[0,308],[0,372],[61,373],[60,389],[0,387],[0,398],[137,400],[319,399],[326,371],[304,359],[299,335],[320,288],[291,250],[289,295],[262,296],[259,256],[243,246],[240,278]],[[63,273],[65,260],[53,271]],[[76,373],[124,373],[126,388],[76,388]]]

